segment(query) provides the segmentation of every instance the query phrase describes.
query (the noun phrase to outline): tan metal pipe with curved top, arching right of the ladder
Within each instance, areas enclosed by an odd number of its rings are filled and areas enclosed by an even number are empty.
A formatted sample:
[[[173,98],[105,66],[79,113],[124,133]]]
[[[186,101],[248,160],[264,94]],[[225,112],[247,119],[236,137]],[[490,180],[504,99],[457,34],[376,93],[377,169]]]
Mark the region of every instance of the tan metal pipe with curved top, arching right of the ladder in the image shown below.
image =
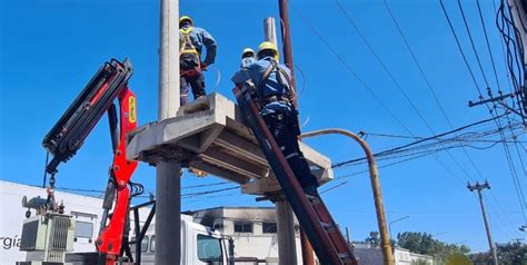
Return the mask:
[[[390,236],[388,234],[388,229],[386,226],[385,206],[382,203],[382,194],[380,192],[380,180],[378,177],[378,170],[377,170],[377,165],[375,163],[374,153],[369,148],[368,143],[362,140],[358,135],[345,129],[330,128],[330,129],[315,130],[315,131],[302,134],[300,137],[308,138],[308,137],[314,137],[314,136],[319,136],[319,135],[330,135],[330,134],[344,135],[354,139],[360,145],[360,147],[362,147],[366,154],[366,157],[368,158],[368,169],[369,169],[369,176],[370,176],[370,181],[371,181],[371,189],[374,190],[375,210],[377,214],[377,224],[379,226],[382,257],[385,261],[385,265],[395,265],[394,252],[391,251],[391,244],[390,244]]]

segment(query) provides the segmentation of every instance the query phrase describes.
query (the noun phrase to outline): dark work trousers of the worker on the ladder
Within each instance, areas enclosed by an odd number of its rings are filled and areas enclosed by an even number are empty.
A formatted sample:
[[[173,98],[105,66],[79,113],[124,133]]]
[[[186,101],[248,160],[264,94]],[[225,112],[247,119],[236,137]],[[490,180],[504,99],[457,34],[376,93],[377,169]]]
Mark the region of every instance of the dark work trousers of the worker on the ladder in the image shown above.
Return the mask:
[[[300,185],[318,187],[317,177],[311,174],[309,164],[298,146],[298,115],[296,110],[286,112],[274,112],[262,116],[267,128],[275,136],[275,140],[286,157]]]

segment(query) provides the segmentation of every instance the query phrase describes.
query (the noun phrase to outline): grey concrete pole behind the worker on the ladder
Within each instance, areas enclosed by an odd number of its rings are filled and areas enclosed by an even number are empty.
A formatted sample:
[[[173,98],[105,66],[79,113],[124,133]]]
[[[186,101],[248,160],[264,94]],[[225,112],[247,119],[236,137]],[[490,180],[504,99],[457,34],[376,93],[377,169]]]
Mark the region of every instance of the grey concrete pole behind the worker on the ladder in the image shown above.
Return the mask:
[[[277,33],[274,18],[264,19],[264,40],[277,43]],[[280,265],[297,263],[297,244],[295,237],[295,218],[291,205],[285,199],[276,202],[278,262]]]

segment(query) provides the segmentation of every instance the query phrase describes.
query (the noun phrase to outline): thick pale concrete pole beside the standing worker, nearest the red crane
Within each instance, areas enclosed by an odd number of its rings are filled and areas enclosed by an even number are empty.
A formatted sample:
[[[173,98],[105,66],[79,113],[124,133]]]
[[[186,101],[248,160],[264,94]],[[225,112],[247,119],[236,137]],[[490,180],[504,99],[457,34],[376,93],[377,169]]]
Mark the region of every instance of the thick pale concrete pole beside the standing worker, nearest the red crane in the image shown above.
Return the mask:
[[[159,37],[158,120],[176,117],[179,109],[179,1],[161,0]],[[181,165],[156,164],[156,264],[180,264]]]

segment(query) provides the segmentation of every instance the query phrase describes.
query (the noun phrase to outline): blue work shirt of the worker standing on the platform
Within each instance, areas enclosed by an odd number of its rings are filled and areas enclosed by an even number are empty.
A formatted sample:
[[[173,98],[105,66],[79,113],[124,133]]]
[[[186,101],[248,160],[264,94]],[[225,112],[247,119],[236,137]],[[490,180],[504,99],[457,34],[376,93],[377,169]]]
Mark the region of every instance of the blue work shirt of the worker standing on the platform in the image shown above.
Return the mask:
[[[188,27],[192,26],[183,26],[182,29],[188,29]],[[183,45],[183,33],[181,30],[179,30],[179,40],[180,40],[180,46]],[[196,48],[199,55],[201,55],[201,51],[203,50],[203,47],[207,49],[207,57],[205,58],[203,62],[206,65],[212,65],[216,60],[216,40],[215,38],[207,32],[207,30],[198,27],[192,27],[192,29],[189,32],[189,38],[190,41],[192,42],[192,46]]]

